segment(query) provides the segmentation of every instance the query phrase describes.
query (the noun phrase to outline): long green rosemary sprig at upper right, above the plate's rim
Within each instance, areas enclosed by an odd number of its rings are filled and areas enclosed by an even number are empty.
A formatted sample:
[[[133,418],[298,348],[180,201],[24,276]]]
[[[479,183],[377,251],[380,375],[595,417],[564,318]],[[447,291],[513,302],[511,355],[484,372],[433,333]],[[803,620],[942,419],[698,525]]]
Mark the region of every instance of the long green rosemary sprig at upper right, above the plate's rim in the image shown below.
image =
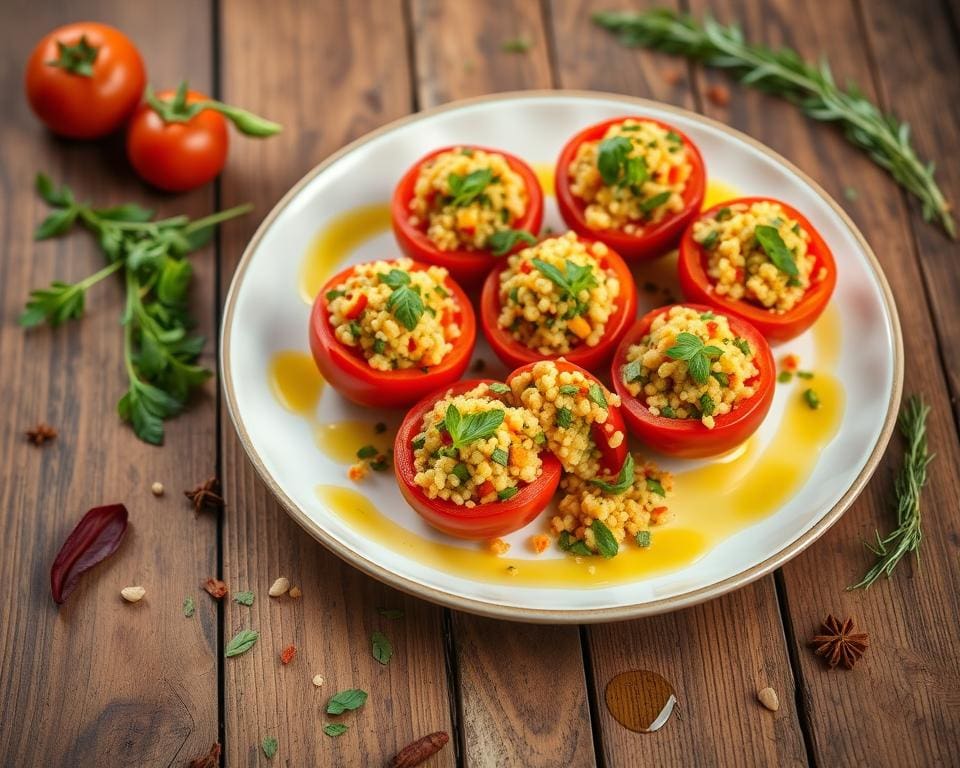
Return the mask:
[[[852,144],[920,200],[926,221],[936,219],[956,238],[950,203],[934,179],[934,164],[924,164],[917,157],[910,143],[910,125],[883,114],[855,85],[840,88],[825,58],[813,66],[790,48],[772,50],[744,41],[735,24],[724,26],[710,16],[699,24],[689,15],[665,8],[600,12],[593,20],[618,33],[625,45],[677,53],[728,69],[744,85],[787,99],[815,120],[837,123]]]

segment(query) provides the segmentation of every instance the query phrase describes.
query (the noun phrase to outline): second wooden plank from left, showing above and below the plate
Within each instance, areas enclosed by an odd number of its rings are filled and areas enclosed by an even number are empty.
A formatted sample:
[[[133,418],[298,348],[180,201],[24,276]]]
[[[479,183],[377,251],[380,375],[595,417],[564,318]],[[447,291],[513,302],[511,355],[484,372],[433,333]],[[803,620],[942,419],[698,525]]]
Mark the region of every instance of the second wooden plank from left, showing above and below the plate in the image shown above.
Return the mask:
[[[409,111],[400,2],[276,3],[264,13],[247,0],[221,11],[223,98],[285,126],[269,141],[235,143],[222,180],[224,205],[252,200],[260,218],[325,155]],[[238,222],[224,232],[221,295],[254,226]],[[380,765],[426,733],[452,733],[442,612],[363,576],[311,539],[256,478],[223,418],[232,502],[224,573],[235,588],[258,595],[252,609],[230,606],[225,636],[244,626],[261,632],[256,653],[226,664],[227,764],[256,764],[267,734],[279,740],[284,765],[333,766]],[[267,589],[280,575],[301,585],[303,598],[270,600]],[[378,606],[403,608],[406,616],[387,626]],[[396,648],[388,667],[370,654],[375,629],[387,631]],[[278,654],[289,644],[298,656],[285,668]],[[326,680],[315,689],[318,673]],[[331,739],[322,731],[322,707],[351,687],[370,698],[347,734]],[[435,764],[454,761],[455,747]]]

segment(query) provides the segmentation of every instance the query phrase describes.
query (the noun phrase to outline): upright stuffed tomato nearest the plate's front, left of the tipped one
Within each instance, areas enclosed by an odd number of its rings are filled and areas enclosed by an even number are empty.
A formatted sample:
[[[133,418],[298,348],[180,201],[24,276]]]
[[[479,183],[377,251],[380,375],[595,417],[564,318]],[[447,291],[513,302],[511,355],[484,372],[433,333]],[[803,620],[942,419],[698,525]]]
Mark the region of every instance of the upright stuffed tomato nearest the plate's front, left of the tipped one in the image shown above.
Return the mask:
[[[394,471],[407,503],[433,527],[490,539],[539,515],[560,482],[536,417],[510,388],[460,381],[407,414],[394,443]]]

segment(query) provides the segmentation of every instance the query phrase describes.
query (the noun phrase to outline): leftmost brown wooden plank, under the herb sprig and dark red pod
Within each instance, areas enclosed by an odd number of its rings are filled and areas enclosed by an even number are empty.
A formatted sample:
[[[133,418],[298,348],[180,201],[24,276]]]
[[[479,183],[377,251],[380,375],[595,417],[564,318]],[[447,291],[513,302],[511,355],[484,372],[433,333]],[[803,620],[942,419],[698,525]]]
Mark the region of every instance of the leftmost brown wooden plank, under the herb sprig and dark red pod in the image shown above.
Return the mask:
[[[35,120],[22,96],[23,63],[41,36],[83,18],[130,35],[155,84],[189,76],[198,88],[210,86],[207,3],[78,0],[69,14],[21,0],[0,7],[0,84],[7,95],[0,143],[0,574],[9,585],[0,598],[0,754],[21,766],[167,766],[217,738],[217,611],[198,591],[216,569],[216,522],[195,520],[181,493],[213,470],[214,387],[168,423],[163,448],[148,446],[116,414],[126,387],[120,282],[93,289],[87,316],[56,331],[26,333],[15,318],[31,288],[78,280],[103,265],[86,233],[32,241],[46,213],[32,188],[38,171],[69,183],[80,199],[135,200],[162,215],[209,213],[213,194],[151,193],[128,168],[120,141],[62,141]],[[212,249],[192,260],[193,306],[210,337]],[[203,362],[214,363],[212,342]],[[60,435],[36,449],[23,430],[40,420]],[[164,497],[151,495],[154,481],[166,486]],[[58,548],[88,508],[117,501],[130,512],[126,541],[58,610],[48,575]],[[134,584],[147,589],[135,606],[119,595]],[[187,594],[198,605],[190,620],[181,613]]]

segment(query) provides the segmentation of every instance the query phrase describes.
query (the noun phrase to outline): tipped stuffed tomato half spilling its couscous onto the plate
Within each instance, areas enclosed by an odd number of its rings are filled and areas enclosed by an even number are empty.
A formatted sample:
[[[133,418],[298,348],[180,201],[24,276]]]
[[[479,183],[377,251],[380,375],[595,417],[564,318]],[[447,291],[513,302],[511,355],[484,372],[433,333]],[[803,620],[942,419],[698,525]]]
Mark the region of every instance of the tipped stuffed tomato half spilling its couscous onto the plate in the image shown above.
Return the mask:
[[[540,423],[544,446],[564,472],[581,478],[616,475],[627,458],[620,397],[566,360],[541,360],[507,377],[515,401]]]

